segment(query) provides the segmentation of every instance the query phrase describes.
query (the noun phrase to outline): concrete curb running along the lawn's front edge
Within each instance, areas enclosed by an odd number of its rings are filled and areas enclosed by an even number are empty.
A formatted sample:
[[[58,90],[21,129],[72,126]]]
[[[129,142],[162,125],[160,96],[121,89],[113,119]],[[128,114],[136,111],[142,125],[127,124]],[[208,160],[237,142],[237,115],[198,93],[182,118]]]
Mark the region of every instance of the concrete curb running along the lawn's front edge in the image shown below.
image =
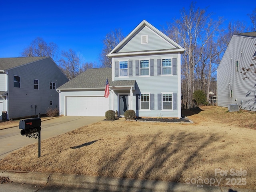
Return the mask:
[[[0,170],[1,177],[8,177],[13,183],[0,184],[0,191],[110,191],[110,192],[255,192],[238,189],[194,184],[141,180],[132,178],[112,178],[72,174],[51,174],[23,171]],[[21,185],[23,183],[23,185]],[[6,190],[6,191],[7,191]]]

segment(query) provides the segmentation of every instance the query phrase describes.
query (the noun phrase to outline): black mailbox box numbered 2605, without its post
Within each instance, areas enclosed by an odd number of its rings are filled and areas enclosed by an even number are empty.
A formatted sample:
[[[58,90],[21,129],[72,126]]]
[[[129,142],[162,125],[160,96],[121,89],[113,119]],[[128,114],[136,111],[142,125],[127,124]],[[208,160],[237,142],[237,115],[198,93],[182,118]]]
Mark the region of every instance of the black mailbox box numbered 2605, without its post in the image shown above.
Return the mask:
[[[20,131],[21,135],[28,135],[35,132],[41,131],[41,119],[32,118],[32,119],[23,119],[20,120]]]

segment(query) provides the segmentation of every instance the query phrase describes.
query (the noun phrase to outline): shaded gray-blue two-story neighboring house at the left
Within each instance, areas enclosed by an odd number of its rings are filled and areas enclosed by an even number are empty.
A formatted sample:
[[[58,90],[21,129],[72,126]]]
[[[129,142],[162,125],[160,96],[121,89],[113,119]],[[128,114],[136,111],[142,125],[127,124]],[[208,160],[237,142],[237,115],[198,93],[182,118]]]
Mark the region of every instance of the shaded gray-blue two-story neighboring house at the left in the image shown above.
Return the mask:
[[[68,79],[50,57],[0,58],[0,112],[20,118],[59,107],[56,88]]]

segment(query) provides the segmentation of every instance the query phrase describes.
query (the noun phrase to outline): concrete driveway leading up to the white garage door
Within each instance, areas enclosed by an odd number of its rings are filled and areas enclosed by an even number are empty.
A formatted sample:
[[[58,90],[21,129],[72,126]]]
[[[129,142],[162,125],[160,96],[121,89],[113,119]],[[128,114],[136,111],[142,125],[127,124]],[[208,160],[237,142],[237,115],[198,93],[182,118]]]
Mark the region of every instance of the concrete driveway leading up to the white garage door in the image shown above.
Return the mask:
[[[104,119],[103,116],[62,116],[42,121],[41,141]],[[0,159],[14,150],[35,142],[38,143],[38,139],[22,136],[19,127],[0,130]]]

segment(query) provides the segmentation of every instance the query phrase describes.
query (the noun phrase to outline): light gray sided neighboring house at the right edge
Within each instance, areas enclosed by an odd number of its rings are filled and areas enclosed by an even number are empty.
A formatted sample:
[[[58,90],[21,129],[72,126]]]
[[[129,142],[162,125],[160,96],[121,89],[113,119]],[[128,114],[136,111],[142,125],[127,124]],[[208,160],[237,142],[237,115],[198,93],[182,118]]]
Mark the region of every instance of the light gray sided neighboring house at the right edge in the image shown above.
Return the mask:
[[[256,65],[254,57],[256,32],[234,34],[217,69],[218,106],[238,104],[241,109],[256,111],[256,78],[242,70]],[[244,79],[246,76],[251,78]]]

